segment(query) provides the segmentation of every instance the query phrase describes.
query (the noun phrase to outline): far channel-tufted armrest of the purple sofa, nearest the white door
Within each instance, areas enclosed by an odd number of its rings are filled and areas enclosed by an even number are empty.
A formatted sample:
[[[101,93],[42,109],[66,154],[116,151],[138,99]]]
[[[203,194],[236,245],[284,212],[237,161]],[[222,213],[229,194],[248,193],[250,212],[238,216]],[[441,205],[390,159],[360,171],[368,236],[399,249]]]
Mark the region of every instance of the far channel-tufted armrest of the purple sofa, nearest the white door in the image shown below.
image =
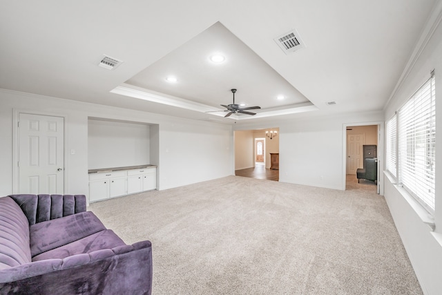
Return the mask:
[[[86,211],[84,195],[10,195],[19,204],[29,225]]]

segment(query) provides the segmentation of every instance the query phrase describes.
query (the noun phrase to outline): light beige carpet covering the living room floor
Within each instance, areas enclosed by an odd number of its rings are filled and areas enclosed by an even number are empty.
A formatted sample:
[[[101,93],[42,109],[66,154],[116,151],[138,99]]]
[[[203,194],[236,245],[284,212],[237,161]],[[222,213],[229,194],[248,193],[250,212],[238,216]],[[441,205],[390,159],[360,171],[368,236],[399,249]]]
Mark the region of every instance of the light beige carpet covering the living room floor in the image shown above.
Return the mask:
[[[353,179],[354,178],[354,179]],[[229,176],[88,208],[151,240],[153,294],[422,294],[385,199]]]

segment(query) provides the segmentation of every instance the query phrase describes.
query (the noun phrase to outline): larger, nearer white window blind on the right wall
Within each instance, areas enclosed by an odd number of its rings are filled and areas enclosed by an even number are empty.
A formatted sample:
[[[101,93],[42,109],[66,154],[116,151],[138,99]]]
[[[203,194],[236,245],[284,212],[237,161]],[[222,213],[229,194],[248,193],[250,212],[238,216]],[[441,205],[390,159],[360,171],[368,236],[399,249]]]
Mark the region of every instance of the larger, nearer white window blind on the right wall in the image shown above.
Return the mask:
[[[434,76],[398,113],[399,182],[434,213],[435,96]]]

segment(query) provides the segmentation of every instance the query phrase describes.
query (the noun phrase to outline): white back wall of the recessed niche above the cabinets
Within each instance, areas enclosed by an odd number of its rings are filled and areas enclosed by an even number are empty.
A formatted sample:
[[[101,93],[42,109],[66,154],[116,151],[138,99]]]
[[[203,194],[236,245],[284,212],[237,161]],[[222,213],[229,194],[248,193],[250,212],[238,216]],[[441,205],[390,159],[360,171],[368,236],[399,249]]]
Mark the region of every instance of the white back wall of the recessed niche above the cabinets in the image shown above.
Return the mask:
[[[150,126],[88,120],[88,169],[151,164]]]

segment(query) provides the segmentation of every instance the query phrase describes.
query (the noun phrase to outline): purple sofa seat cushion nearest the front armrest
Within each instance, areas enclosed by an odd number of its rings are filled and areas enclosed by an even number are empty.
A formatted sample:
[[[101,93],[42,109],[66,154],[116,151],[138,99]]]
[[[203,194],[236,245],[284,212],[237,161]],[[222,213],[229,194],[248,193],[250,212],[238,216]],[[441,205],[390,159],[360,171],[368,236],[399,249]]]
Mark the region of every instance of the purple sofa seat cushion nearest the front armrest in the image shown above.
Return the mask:
[[[89,254],[90,252],[100,249],[112,249],[114,247],[126,245],[119,236],[117,236],[111,229],[99,231],[96,234],[81,238],[75,242],[67,245],[46,251],[42,254],[34,256],[32,261],[39,261],[45,259],[64,259],[68,256],[77,254]]]

